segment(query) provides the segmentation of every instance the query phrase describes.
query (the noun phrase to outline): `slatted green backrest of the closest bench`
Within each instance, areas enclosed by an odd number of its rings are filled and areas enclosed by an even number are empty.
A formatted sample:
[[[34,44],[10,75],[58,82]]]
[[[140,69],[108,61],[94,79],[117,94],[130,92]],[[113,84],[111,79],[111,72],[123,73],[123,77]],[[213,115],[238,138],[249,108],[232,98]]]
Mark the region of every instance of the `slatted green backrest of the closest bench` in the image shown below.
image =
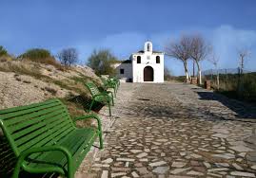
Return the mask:
[[[0,110],[0,126],[16,156],[32,147],[53,145],[75,129],[59,99]]]

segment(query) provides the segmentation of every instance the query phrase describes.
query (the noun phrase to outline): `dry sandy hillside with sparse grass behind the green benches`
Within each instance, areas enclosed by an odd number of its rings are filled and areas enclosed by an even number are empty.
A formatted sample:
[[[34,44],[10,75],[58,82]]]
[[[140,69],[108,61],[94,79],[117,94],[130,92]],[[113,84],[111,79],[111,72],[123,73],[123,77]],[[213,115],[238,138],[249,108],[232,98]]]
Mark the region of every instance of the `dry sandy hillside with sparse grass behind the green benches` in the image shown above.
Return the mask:
[[[64,67],[30,61],[0,62],[0,109],[61,98],[68,105],[71,115],[79,116],[85,114],[84,103],[74,98],[89,98],[89,91],[84,86],[88,80],[100,83],[87,66]]]

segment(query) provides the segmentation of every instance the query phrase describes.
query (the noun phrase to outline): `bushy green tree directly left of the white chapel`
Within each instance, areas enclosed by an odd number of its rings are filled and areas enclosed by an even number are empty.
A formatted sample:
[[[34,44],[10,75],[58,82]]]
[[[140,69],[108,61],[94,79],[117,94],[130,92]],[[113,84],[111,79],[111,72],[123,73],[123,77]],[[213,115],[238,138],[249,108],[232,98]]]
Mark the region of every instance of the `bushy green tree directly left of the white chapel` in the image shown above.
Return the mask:
[[[88,65],[97,75],[114,75],[115,69],[111,63],[115,61],[117,58],[108,49],[94,50],[89,57]]]

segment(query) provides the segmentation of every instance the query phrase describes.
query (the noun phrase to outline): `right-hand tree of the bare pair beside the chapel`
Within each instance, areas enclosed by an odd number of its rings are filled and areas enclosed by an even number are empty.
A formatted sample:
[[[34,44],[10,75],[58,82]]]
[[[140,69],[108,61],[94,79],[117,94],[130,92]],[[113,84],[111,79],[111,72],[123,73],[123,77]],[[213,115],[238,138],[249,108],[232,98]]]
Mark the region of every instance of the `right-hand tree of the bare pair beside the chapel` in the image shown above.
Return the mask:
[[[197,76],[199,78],[199,84],[202,84],[200,62],[205,60],[207,58],[207,55],[210,54],[211,47],[207,45],[205,39],[201,35],[191,36],[190,45],[190,57],[197,65]]]

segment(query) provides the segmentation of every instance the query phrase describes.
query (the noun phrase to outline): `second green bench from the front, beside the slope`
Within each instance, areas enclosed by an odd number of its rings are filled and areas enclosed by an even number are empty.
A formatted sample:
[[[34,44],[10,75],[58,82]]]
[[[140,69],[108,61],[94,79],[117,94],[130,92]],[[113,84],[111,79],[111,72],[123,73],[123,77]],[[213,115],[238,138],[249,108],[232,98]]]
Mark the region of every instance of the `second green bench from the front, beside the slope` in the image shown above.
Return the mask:
[[[114,98],[113,98],[113,93],[110,91],[100,91],[99,88],[93,83],[93,82],[87,82],[86,86],[89,89],[89,92],[92,97],[92,101],[89,105],[89,111],[91,110],[93,104],[96,102],[108,104],[108,111],[109,111],[109,116],[111,115],[111,103],[114,105]]]

